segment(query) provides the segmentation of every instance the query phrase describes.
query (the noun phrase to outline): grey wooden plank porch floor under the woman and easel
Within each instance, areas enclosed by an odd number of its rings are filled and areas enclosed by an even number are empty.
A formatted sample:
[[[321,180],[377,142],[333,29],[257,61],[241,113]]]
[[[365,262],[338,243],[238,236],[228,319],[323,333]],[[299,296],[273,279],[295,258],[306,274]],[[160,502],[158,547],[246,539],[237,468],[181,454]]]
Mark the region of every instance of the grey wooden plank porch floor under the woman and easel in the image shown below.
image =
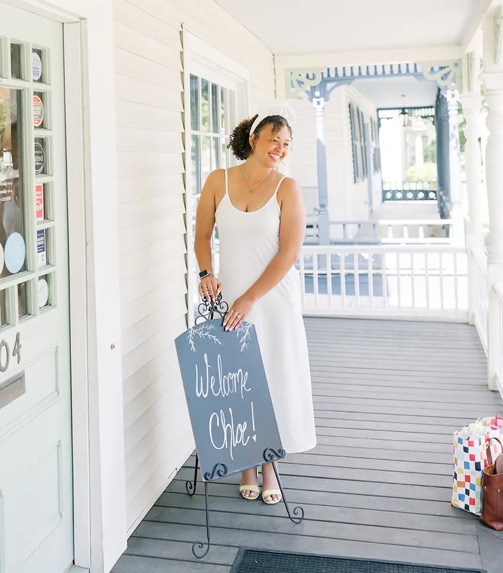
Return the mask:
[[[485,355],[466,324],[305,319],[318,445],[280,464],[281,504],[239,499],[238,476],[210,484],[213,547],[205,560],[204,496],[185,493],[194,457],[129,539],[113,573],[227,573],[239,547],[283,549],[503,572],[503,532],[450,507],[452,433],[503,413]],[[285,572],[288,573],[288,572]]]

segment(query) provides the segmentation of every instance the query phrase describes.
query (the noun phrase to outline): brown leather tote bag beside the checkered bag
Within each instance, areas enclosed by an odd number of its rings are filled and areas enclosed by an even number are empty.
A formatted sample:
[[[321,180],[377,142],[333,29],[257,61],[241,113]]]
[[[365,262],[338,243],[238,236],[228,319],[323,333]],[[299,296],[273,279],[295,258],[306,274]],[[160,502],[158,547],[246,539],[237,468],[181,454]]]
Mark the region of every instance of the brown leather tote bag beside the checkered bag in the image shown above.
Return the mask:
[[[499,438],[503,451],[503,444]],[[496,458],[493,464],[491,450],[488,448],[489,464],[484,470],[482,478],[482,515],[480,520],[496,529],[503,531],[503,454]]]

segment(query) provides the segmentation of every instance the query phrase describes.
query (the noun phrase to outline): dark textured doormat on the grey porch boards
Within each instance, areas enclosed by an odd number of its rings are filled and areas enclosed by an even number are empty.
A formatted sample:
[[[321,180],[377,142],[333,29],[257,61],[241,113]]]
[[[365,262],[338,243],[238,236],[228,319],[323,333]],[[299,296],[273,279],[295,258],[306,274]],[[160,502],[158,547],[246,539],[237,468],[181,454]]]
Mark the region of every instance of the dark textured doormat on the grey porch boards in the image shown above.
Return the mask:
[[[459,569],[348,559],[279,551],[256,551],[241,548],[230,573],[486,573],[482,569]]]

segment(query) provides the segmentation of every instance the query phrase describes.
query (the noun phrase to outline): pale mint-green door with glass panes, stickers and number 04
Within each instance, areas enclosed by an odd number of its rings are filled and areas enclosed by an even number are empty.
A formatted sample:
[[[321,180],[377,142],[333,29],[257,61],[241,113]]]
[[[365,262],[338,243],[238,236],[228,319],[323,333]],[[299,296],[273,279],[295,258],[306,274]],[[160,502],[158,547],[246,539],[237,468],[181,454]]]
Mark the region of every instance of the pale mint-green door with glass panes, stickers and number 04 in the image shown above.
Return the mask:
[[[73,563],[61,23],[0,1],[0,572]]]

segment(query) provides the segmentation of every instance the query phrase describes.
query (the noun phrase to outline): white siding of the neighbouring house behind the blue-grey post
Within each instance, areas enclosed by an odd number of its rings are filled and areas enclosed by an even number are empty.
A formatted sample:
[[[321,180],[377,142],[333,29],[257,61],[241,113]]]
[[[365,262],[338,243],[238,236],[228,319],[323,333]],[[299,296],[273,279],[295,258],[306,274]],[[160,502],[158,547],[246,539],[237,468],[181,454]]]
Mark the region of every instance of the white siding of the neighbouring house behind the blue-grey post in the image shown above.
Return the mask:
[[[316,126],[312,104],[307,97],[291,100],[297,113],[291,174],[303,188],[317,186]],[[368,182],[354,182],[349,103],[363,111],[366,122],[377,120],[374,105],[352,87],[342,86],[331,93],[325,105],[325,148],[327,153],[328,213],[331,221],[368,219]],[[374,185],[374,208],[381,202],[381,178],[370,169]],[[311,200],[305,194],[306,204]],[[307,205],[306,205],[307,206]]]

